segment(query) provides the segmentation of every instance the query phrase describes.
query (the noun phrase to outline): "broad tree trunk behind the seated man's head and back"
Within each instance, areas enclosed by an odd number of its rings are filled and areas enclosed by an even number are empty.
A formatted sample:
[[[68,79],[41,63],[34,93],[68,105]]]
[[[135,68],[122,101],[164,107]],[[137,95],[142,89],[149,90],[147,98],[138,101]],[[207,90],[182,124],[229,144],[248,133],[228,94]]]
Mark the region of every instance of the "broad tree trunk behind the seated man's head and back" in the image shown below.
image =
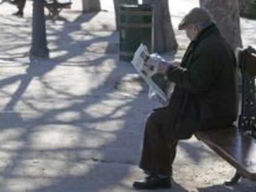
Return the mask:
[[[233,49],[242,46],[238,0],[200,0],[200,6],[210,11]]]

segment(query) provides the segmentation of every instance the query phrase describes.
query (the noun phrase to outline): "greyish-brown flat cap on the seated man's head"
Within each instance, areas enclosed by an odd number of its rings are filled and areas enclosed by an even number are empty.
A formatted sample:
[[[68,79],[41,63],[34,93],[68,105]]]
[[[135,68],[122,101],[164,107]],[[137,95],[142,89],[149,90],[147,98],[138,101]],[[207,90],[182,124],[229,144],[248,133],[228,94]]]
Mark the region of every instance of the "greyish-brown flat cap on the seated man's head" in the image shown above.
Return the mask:
[[[184,27],[189,24],[195,24],[198,23],[204,23],[204,22],[211,22],[211,16],[208,12],[208,10],[195,7],[194,9],[190,10],[190,12],[185,15],[185,17],[182,19],[181,23],[179,23],[178,29],[184,30]]]

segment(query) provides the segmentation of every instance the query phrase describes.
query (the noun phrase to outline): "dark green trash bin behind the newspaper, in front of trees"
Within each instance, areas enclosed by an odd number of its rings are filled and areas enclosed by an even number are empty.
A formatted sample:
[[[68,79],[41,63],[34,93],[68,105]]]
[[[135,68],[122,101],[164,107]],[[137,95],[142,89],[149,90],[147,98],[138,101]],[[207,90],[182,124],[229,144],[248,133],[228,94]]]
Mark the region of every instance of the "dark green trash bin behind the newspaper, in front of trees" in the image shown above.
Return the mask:
[[[121,4],[119,7],[119,59],[132,61],[140,43],[153,50],[153,7]]]

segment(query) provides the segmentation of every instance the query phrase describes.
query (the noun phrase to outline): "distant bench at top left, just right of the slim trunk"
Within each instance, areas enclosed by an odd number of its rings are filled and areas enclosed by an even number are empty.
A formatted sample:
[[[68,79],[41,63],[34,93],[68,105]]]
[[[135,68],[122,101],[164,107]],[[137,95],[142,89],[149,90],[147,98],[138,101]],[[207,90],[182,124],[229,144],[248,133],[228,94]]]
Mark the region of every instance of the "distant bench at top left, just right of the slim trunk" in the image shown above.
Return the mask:
[[[70,9],[72,2],[70,0],[46,0],[45,7],[49,10],[49,16],[54,19],[59,16],[62,9]]]

